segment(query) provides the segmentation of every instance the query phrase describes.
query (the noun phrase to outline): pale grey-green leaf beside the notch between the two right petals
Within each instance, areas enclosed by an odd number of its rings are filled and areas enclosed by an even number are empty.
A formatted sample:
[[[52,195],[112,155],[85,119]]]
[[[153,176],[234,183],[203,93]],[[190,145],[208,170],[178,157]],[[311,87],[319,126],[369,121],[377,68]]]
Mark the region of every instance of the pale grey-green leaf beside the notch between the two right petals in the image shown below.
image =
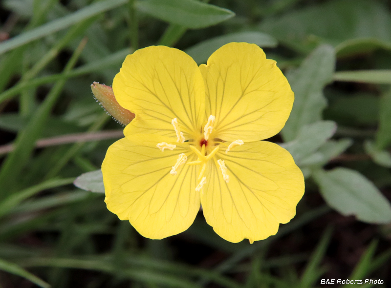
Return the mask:
[[[297,165],[301,165],[301,161],[325,144],[336,130],[337,124],[333,121],[307,124],[300,129],[295,140],[281,144],[281,146],[292,154]]]

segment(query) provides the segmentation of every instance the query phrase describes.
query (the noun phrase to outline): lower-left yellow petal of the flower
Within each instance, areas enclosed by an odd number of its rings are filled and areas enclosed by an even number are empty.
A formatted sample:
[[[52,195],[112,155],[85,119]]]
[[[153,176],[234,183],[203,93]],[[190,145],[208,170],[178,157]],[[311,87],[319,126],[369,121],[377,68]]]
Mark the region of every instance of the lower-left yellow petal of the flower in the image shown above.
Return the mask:
[[[176,148],[162,152],[158,142],[176,144]],[[190,151],[186,145],[142,134],[123,138],[107,151],[102,164],[107,207],[119,219],[129,220],[144,237],[178,234],[195,219],[200,207],[195,191],[198,167],[183,165],[177,175],[170,174],[179,154]]]

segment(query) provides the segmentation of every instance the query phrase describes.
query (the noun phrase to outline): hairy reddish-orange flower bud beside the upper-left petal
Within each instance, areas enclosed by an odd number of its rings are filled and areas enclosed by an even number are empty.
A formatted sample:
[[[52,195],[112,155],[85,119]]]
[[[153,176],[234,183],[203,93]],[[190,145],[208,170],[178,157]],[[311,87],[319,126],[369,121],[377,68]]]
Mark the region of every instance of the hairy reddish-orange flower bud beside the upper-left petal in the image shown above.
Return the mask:
[[[115,99],[113,88],[93,82],[91,90],[96,99],[109,112],[109,114],[123,125],[128,125],[134,118],[134,113],[123,108]]]

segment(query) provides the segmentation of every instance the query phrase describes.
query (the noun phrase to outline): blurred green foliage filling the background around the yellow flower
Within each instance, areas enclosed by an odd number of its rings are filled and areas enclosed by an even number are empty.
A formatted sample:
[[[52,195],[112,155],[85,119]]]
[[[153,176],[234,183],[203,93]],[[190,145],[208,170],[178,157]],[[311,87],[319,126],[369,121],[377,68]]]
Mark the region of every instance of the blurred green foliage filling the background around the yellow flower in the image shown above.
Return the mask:
[[[0,287],[391,283],[390,0],[3,0],[0,25]],[[220,239],[202,213],[180,235],[144,239],[103,194],[72,185],[94,171],[78,185],[102,192],[122,129],[90,84],[110,85],[138,48],[203,63],[231,41],[264,48],[295,92],[270,141],[304,172],[297,216],[253,245]]]

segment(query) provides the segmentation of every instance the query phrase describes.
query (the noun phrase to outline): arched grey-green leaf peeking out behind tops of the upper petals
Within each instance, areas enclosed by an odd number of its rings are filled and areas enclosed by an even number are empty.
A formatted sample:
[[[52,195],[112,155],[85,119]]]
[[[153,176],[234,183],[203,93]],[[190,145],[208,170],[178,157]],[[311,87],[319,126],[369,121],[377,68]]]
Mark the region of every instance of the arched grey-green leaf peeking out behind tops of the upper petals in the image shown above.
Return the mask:
[[[213,52],[222,45],[230,42],[254,43],[261,47],[276,47],[278,44],[275,38],[265,33],[246,31],[227,34],[199,42],[198,44],[186,49],[185,52],[193,57],[197,64],[206,63]]]

